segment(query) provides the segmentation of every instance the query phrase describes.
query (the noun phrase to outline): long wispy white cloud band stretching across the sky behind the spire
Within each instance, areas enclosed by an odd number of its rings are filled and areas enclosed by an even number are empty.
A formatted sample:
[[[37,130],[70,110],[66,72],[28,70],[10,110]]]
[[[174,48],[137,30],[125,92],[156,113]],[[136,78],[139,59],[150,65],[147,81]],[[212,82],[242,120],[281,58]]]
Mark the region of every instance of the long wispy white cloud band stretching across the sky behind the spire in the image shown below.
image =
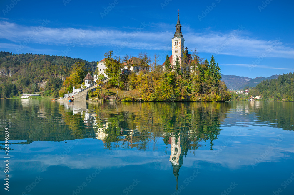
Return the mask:
[[[80,47],[108,46],[111,48],[124,47],[138,50],[170,50],[171,38],[174,31],[169,24],[148,24],[140,28],[126,27],[123,30],[115,28],[77,29],[21,26],[8,21],[1,21],[0,36],[2,39],[21,44],[30,39],[31,43],[43,45]],[[139,25],[140,26],[140,25]],[[156,31],[154,31],[156,27]],[[172,29],[171,29],[172,30]],[[261,40],[242,35],[242,30],[230,33],[220,33],[206,30],[205,33],[195,33],[187,28],[184,34],[189,49],[196,48],[198,52],[213,55],[234,55],[244,57],[294,58],[294,49],[283,43],[283,40]],[[245,34],[245,33],[243,33]]]

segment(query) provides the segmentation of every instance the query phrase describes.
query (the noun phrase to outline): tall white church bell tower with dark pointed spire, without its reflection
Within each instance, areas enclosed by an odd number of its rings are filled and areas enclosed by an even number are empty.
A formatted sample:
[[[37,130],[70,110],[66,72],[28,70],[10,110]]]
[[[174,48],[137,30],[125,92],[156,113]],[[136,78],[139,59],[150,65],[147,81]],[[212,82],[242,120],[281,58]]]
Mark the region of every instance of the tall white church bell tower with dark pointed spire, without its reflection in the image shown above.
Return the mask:
[[[183,51],[185,48],[185,39],[183,38],[183,35],[182,35],[182,26],[180,23],[179,13],[178,13],[178,23],[176,25],[176,33],[174,34],[171,40],[173,44],[171,66],[174,67],[176,64],[176,57],[179,58],[180,65],[181,65],[181,59],[183,57]]]

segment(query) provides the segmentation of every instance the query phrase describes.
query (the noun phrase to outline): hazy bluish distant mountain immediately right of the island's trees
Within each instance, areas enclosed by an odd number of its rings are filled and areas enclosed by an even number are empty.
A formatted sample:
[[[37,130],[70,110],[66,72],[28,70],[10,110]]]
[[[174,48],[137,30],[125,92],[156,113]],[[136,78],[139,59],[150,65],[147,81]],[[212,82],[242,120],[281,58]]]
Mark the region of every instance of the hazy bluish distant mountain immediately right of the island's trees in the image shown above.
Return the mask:
[[[225,82],[228,89],[239,89],[244,83],[249,82],[251,78],[239,77],[235,75],[224,75],[221,74],[222,81]],[[256,85],[255,85],[256,86]]]

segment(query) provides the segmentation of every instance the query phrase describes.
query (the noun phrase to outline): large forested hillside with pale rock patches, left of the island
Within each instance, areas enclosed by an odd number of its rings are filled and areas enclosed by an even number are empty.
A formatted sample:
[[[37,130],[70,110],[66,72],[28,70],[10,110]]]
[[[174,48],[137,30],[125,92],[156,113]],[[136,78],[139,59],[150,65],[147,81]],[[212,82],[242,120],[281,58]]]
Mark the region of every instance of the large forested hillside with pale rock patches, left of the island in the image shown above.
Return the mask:
[[[0,97],[41,91],[44,96],[58,97],[63,80],[75,62],[84,62],[92,72],[97,62],[64,56],[13,54],[0,52]]]

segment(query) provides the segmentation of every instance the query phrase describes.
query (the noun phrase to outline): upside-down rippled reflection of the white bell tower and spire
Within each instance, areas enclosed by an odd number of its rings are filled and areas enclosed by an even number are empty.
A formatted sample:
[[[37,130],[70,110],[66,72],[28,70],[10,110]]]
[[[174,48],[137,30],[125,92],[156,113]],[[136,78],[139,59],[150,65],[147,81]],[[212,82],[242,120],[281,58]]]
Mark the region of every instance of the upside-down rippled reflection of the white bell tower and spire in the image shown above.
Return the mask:
[[[178,133],[178,135],[180,135],[180,133]],[[169,139],[169,143],[171,144],[171,156],[169,157],[169,161],[171,161],[171,164],[173,166],[173,175],[176,177],[177,181],[176,190],[178,190],[179,170],[183,165],[184,157],[184,152],[182,146],[180,145],[180,141],[180,136],[170,137]]]

